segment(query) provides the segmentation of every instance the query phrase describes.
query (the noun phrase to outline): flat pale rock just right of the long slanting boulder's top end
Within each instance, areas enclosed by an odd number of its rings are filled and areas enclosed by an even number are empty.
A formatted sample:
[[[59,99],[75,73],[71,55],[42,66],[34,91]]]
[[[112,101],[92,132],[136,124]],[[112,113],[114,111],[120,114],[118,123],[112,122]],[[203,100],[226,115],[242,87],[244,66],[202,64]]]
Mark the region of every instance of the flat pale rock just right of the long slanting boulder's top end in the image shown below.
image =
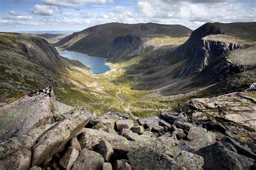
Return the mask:
[[[114,129],[114,124],[118,120],[118,115],[100,115],[90,118],[90,124],[96,125],[97,123],[109,124],[112,129]]]

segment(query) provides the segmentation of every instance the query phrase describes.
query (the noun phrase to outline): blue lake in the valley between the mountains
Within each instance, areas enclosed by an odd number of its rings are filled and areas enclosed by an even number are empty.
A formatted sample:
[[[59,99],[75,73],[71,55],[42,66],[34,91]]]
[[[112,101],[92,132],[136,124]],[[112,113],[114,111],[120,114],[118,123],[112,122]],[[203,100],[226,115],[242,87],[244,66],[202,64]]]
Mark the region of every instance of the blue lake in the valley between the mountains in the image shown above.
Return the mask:
[[[73,51],[58,51],[59,55],[71,60],[78,60],[85,66],[91,68],[92,74],[102,74],[110,70],[110,66],[107,65],[106,59],[99,56],[90,56],[83,53]]]

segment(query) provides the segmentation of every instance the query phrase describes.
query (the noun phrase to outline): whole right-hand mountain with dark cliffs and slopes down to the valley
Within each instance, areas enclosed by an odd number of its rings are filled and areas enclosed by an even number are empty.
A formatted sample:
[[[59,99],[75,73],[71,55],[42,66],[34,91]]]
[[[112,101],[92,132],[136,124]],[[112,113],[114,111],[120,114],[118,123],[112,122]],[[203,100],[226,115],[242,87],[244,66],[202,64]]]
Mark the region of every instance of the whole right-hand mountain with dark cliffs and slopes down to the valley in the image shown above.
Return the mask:
[[[255,77],[256,23],[206,23],[179,47],[159,48],[146,54],[153,60],[138,72],[143,83],[133,89],[159,89],[173,95],[203,90],[203,96],[244,89]],[[215,84],[217,83],[217,84]],[[196,92],[198,94],[198,91]]]

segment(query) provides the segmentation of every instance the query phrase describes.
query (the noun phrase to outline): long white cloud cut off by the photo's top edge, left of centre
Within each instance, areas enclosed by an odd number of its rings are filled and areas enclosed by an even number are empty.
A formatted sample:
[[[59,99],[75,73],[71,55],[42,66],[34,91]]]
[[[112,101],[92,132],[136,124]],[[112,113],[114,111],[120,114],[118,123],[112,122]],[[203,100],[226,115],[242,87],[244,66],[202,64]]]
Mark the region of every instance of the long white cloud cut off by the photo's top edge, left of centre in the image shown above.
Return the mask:
[[[46,5],[83,6],[85,4],[113,3],[113,0],[41,0]]]

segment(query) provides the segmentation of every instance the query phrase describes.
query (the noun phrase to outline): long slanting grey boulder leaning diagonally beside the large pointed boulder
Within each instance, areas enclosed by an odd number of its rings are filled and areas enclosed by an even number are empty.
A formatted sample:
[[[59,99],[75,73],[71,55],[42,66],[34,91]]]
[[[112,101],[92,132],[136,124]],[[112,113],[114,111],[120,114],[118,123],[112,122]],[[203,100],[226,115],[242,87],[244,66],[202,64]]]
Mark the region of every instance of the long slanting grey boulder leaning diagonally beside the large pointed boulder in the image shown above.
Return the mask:
[[[89,122],[90,116],[91,112],[87,110],[77,111],[45,132],[33,146],[32,165],[39,165],[44,159],[62,151],[65,144]]]

